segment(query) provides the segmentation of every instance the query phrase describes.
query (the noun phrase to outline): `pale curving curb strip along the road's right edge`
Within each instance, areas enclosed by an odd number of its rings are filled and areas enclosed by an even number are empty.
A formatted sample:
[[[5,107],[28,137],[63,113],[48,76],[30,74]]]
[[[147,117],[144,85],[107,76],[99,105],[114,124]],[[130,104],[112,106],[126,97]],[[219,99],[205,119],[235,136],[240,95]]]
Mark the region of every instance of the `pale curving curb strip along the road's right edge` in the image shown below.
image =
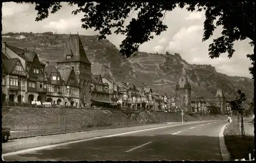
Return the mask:
[[[219,134],[219,142],[220,142],[220,151],[221,151],[221,157],[223,161],[230,160],[230,155],[227,150],[226,144],[225,144],[225,139],[224,139],[224,130],[226,129],[227,124],[225,124],[220,131]]]

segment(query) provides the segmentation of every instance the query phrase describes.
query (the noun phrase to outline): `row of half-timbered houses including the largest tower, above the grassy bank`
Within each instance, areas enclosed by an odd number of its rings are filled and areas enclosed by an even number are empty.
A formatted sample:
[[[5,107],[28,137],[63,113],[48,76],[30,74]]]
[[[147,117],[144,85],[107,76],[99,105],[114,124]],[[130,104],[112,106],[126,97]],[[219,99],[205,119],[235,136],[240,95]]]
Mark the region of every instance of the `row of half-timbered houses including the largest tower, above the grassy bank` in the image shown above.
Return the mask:
[[[70,35],[57,66],[2,42],[2,102],[50,102],[73,107],[101,106],[164,111],[167,95],[91,73],[79,35]]]

